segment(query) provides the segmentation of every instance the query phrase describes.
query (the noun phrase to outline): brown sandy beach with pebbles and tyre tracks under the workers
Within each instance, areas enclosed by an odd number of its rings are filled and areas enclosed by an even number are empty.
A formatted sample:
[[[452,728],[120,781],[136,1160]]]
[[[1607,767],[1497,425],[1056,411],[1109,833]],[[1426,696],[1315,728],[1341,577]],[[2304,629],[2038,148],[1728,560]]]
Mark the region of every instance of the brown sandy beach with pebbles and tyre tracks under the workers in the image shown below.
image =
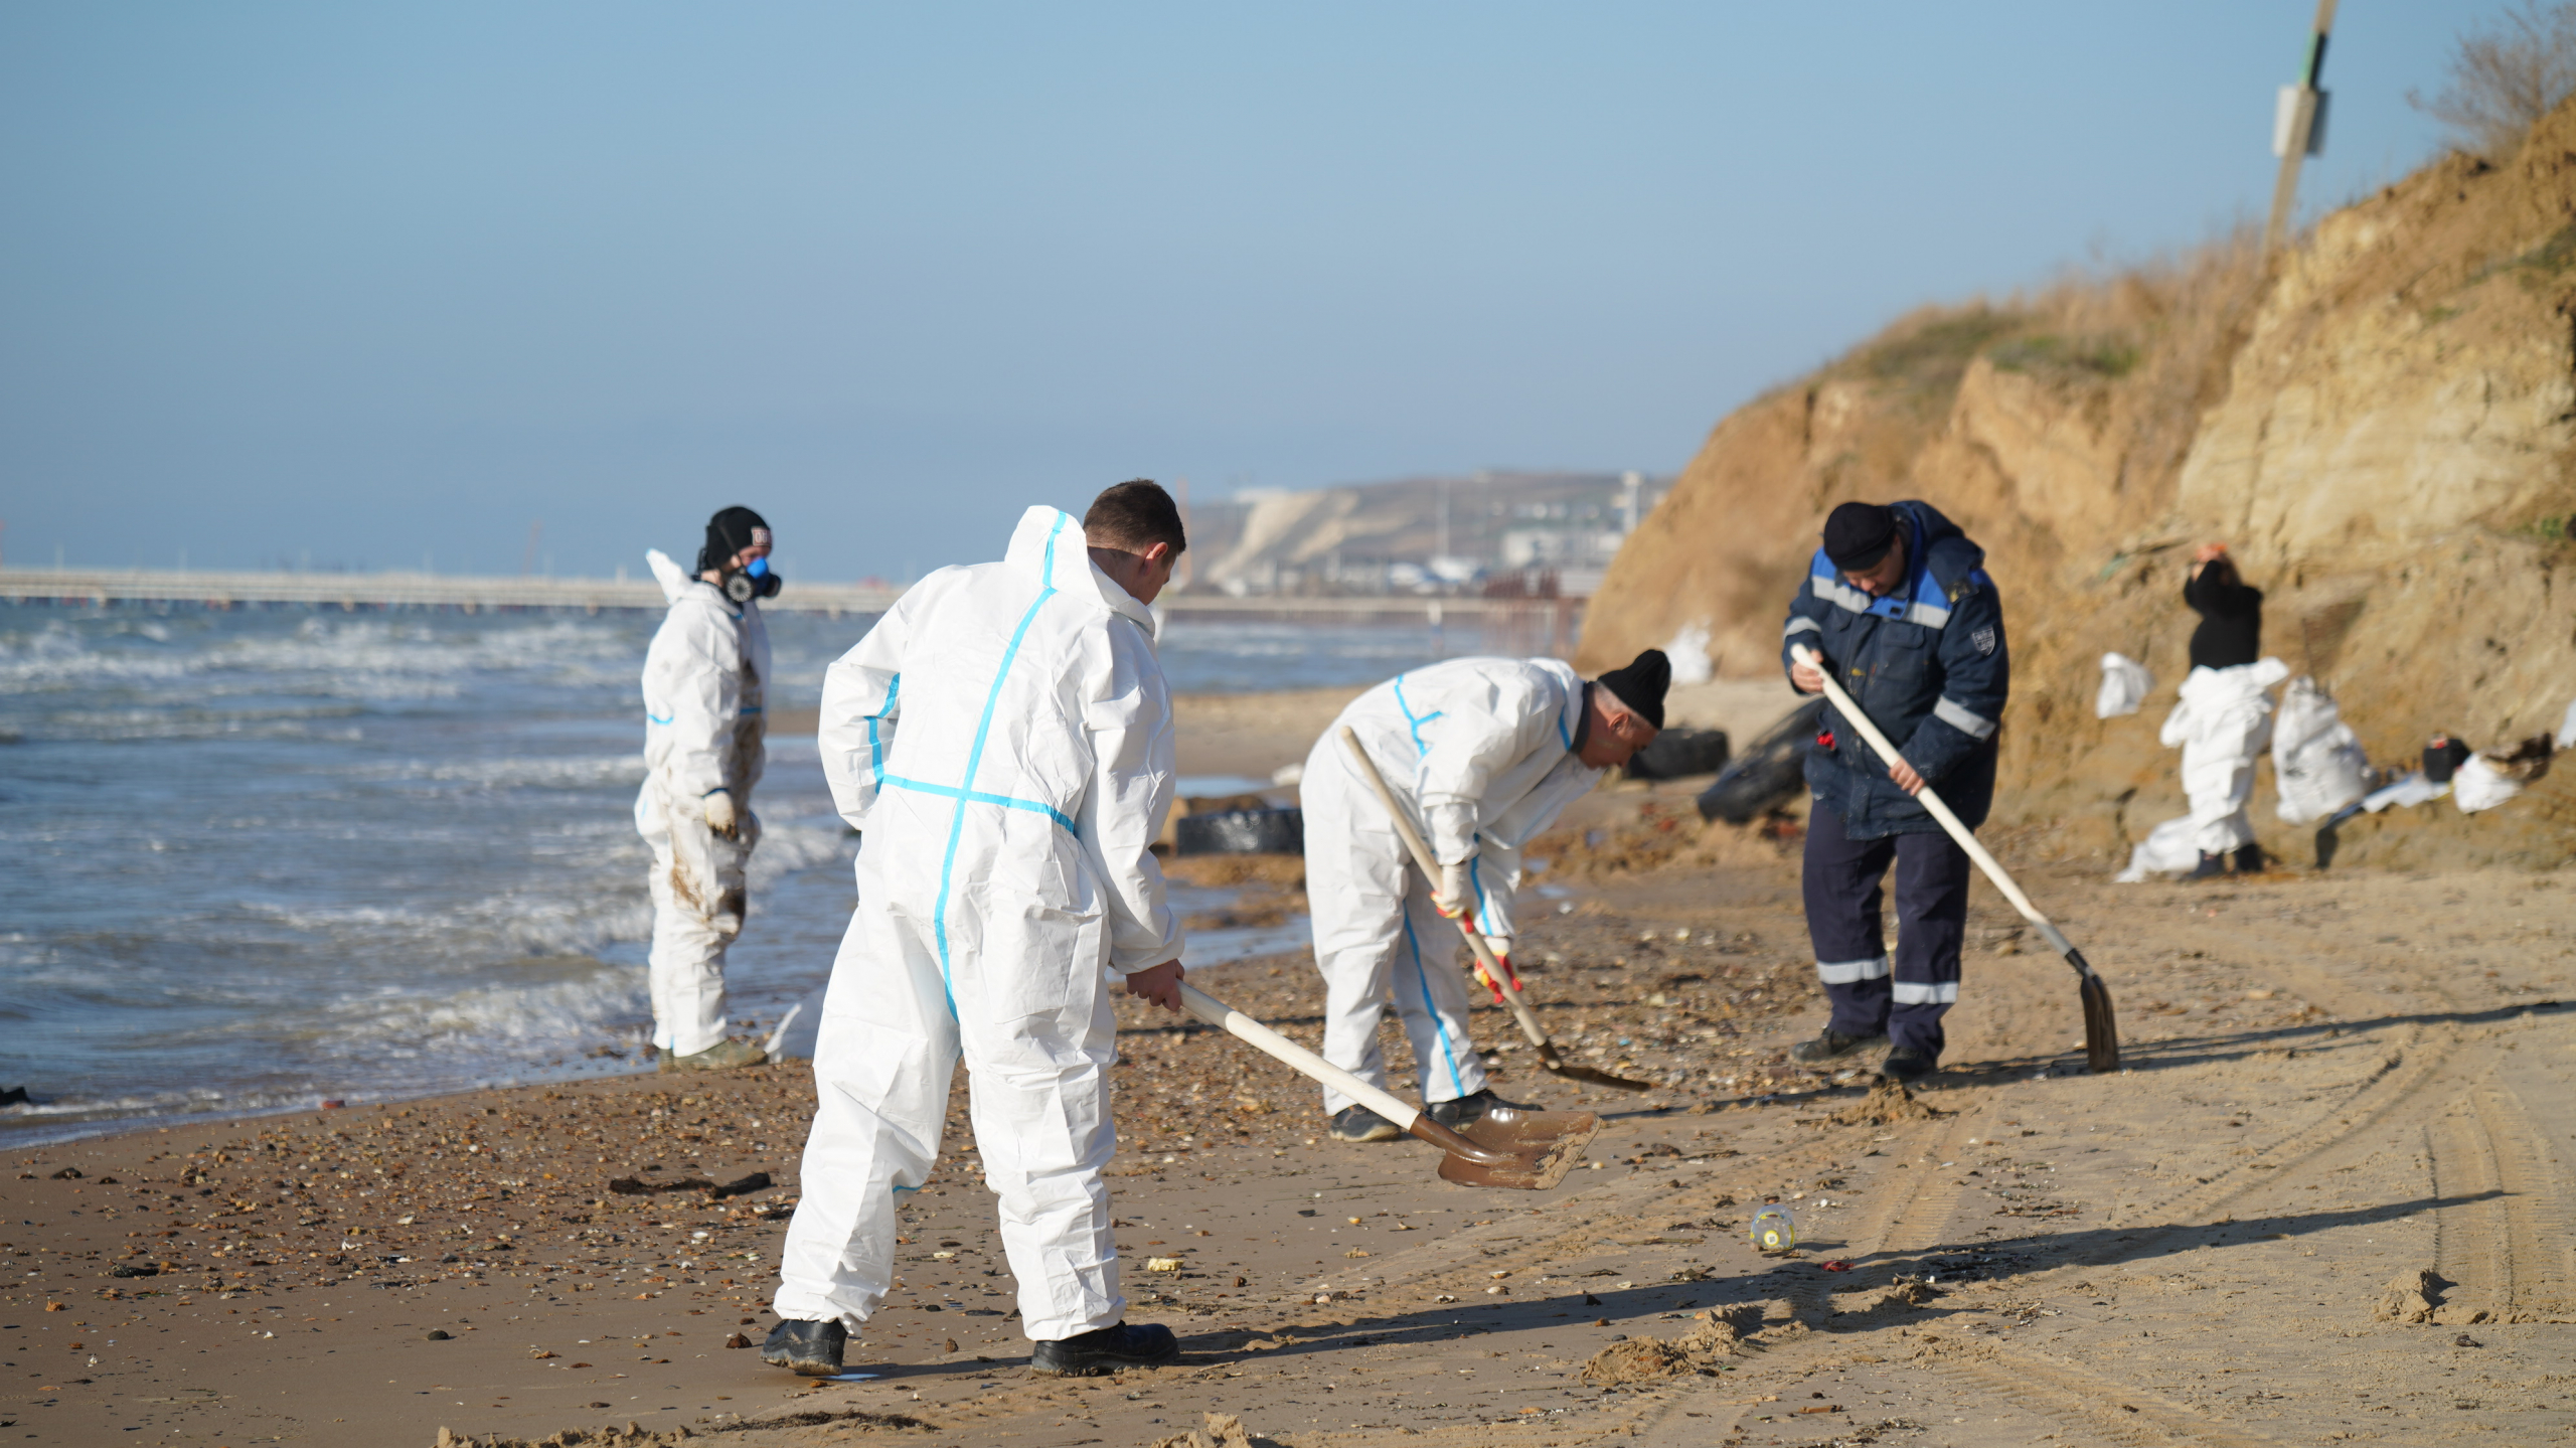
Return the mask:
[[[1301,755],[1337,703],[1226,701],[1185,768]],[[1945,1072],[1909,1100],[1788,1064],[1821,1020],[1795,819],[1703,830],[1690,791],[1615,786],[1533,850],[1566,886],[1522,946],[1551,1036],[1656,1085],[1569,1087],[1479,1010],[1507,1095],[1605,1118],[1548,1193],[1332,1144],[1306,1082],[1123,1007],[1126,1291],[1180,1332],[1175,1368],[1025,1373],[963,1077],[850,1381],[762,1368],[737,1342],[773,1322],[811,1095],[781,1064],[15,1157],[0,1440],[1141,1448],[1208,1412],[1296,1448],[2576,1427],[2563,871],[2032,866],[2110,976],[2128,1069],[2081,1072],[2071,974],[1978,886]],[[1267,889],[1247,907],[1298,907],[1293,861],[1224,868]],[[1195,979],[1316,1043],[1303,953]],[[1765,1203],[1795,1211],[1793,1255],[1744,1239]]]

